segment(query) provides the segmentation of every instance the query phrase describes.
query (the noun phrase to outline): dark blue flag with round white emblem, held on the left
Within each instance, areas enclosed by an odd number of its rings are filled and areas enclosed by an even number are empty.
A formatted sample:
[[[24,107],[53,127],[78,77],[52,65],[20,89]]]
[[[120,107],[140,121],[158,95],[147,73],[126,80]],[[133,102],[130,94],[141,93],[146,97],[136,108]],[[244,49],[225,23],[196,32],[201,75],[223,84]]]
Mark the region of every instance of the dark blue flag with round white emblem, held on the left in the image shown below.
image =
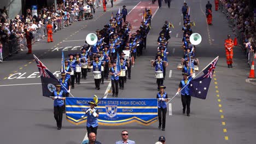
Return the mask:
[[[59,81],[35,55],[33,56],[41,77],[43,96],[51,97],[51,93],[56,90],[55,85],[59,84]]]

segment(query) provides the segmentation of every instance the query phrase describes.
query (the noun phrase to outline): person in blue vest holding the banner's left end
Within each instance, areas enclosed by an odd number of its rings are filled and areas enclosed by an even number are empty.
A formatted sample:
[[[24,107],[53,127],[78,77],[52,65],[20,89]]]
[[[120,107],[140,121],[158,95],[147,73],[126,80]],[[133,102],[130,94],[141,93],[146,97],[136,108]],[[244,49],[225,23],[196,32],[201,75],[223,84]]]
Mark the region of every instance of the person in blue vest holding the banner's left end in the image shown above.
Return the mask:
[[[62,126],[62,111],[65,99],[65,94],[61,91],[61,85],[56,85],[56,91],[51,94],[52,99],[54,100],[54,118],[57,123],[58,130]]]

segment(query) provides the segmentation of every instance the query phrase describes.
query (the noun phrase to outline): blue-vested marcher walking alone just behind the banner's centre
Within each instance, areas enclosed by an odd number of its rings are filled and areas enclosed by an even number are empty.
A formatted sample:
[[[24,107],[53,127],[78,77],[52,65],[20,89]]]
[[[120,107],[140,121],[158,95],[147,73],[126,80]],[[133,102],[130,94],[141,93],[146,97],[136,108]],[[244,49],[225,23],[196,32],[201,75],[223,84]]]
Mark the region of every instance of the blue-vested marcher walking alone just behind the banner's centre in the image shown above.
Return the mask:
[[[112,84],[112,97],[118,97],[118,81],[119,81],[119,73],[116,71],[116,65],[117,63],[115,61],[112,61],[112,67],[110,68],[110,75],[111,75],[111,84]]]

